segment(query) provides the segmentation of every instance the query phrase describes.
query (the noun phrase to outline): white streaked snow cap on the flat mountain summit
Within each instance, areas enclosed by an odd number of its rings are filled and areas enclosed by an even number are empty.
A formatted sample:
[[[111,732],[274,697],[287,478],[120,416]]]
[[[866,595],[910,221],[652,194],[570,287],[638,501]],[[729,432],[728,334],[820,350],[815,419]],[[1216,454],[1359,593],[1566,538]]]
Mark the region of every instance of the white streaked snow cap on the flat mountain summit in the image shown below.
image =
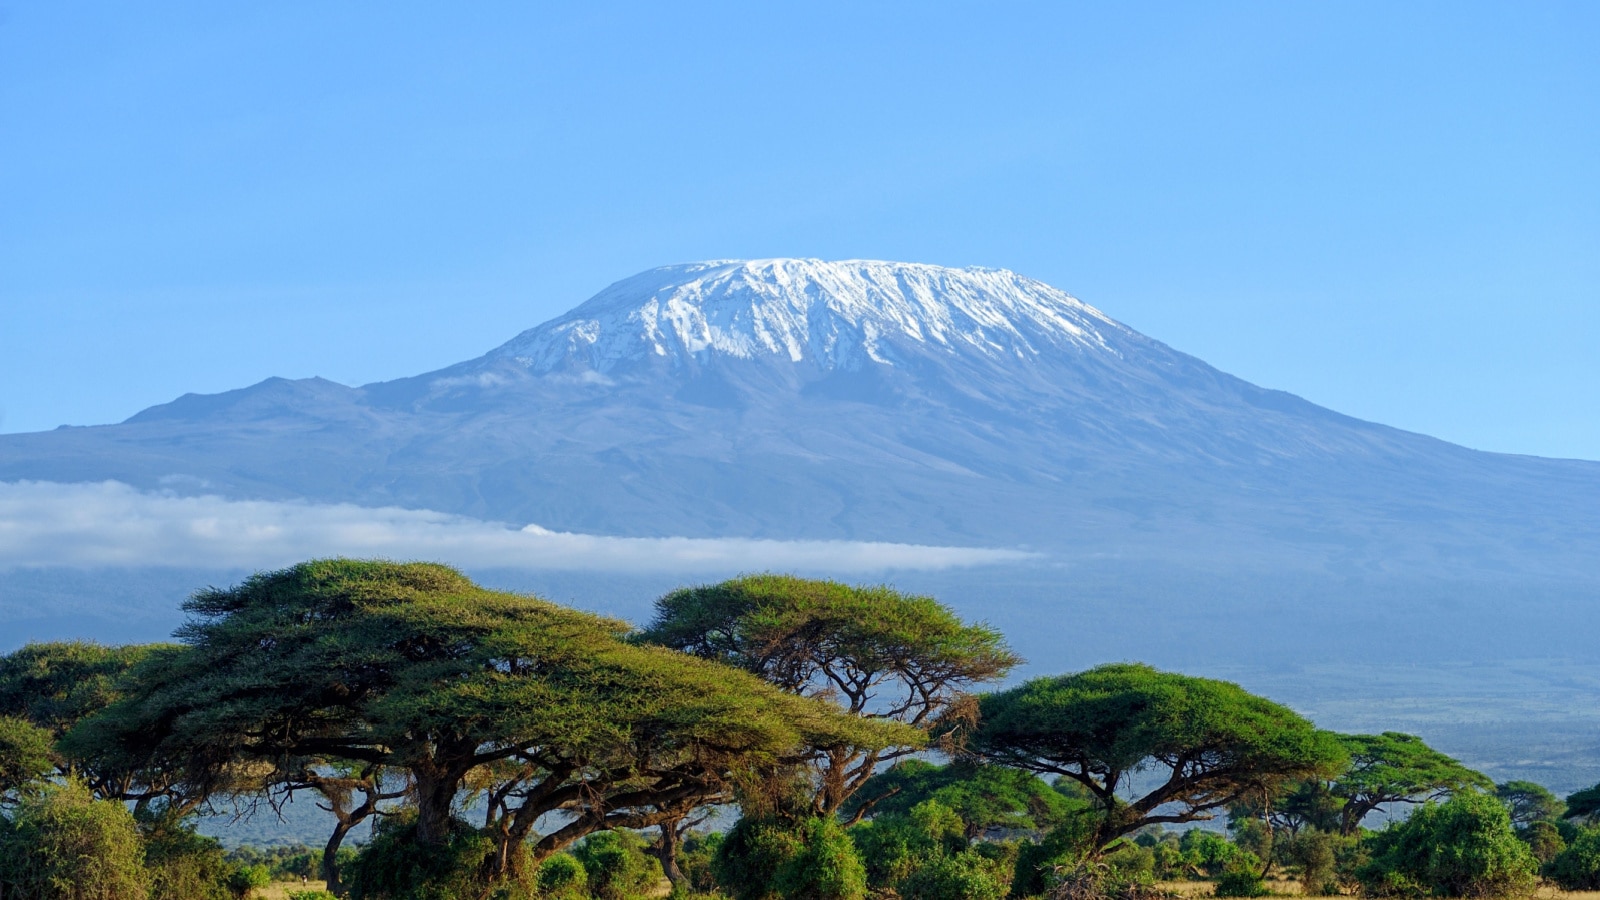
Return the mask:
[[[533,372],[626,360],[682,364],[726,354],[813,360],[824,368],[893,365],[896,348],[936,346],[1030,359],[1051,348],[1114,352],[1125,331],[1098,309],[1006,269],[874,259],[718,259],[621,280],[571,312],[493,351]]]

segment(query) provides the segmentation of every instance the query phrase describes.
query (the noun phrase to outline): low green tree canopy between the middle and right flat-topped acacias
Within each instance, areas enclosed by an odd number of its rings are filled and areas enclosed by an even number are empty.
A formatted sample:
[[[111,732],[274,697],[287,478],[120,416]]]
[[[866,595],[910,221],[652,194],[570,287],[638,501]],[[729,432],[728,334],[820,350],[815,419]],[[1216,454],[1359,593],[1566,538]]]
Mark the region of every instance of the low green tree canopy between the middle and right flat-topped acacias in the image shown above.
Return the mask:
[[[950,765],[922,759],[896,762],[874,775],[843,814],[848,817],[874,799],[874,817],[936,801],[960,817],[968,838],[978,838],[989,828],[1048,831],[1090,807],[1086,799],[1053,790],[1032,772],[965,761]]]

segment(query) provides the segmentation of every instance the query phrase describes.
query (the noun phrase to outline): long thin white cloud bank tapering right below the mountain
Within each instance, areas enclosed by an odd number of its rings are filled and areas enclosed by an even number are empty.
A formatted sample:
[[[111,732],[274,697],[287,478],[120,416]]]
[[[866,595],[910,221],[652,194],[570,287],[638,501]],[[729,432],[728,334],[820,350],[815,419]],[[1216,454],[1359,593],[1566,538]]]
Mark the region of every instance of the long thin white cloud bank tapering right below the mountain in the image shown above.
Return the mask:
[[[0,569],[275,569],[320,556],[613,572],[878,572],[1037,554],[875,541],[610,538],[394,506],[178,496],[120,482],[0,482]]]

